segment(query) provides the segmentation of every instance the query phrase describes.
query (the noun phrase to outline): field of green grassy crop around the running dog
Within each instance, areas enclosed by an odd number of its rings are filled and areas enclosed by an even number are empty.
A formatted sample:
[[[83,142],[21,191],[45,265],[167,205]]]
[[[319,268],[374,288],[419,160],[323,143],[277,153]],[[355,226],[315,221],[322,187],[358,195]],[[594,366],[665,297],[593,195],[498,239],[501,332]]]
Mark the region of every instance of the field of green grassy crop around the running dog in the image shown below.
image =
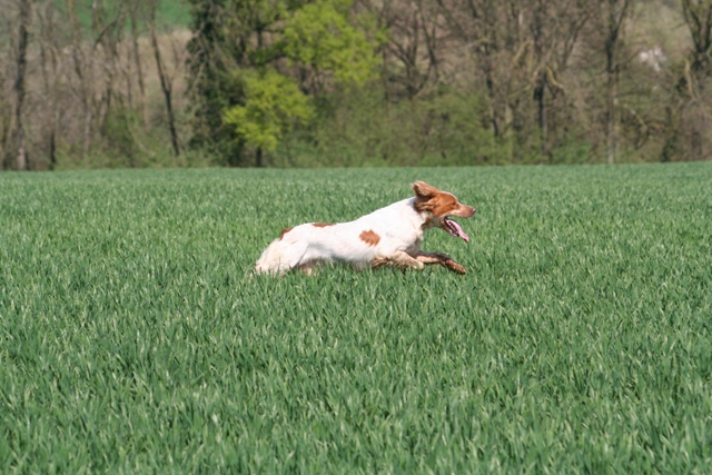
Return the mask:
[[[442,267],[249,278],[423,179]],[[710,473],[712,162],[0,175],[2,473]]]

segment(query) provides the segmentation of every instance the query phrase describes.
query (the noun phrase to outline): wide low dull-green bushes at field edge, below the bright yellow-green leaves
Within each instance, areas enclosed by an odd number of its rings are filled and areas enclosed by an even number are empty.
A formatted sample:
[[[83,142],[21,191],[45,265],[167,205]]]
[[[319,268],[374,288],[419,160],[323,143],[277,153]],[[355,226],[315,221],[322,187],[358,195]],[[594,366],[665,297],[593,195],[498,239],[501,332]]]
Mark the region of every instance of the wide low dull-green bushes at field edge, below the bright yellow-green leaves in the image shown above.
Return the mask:
[[[442,91],[390,103],[380,83],[344,88],[322,97],[307,130],[289,135],[271,164],[277,166],[454,166],[507,162],[477,120],[477,93]],[[327,159],[327,162],[319,160]]]

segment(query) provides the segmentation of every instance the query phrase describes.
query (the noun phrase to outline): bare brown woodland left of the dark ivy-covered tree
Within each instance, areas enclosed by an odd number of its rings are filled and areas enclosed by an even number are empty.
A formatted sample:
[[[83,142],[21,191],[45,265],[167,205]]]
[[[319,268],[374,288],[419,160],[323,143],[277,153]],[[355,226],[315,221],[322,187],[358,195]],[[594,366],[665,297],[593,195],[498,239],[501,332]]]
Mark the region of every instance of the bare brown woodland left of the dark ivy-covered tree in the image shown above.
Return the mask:
[[[181,165],[189,34],[160,6],[0,0],[1,168]]]

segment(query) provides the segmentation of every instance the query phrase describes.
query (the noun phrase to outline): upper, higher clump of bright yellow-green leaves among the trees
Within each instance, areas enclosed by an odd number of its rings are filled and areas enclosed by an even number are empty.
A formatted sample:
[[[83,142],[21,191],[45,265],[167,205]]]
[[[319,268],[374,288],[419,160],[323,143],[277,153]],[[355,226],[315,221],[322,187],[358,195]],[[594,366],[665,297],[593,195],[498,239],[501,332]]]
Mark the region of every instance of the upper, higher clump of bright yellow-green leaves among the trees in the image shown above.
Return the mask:
[[[284,29],[284,50],[294,62],[332,71],[342,83],[364,85],[376,75],[378,41],[348,18],[353,0],[318,0],[294,12]],[[370,26],[372,34],[375,27]]]

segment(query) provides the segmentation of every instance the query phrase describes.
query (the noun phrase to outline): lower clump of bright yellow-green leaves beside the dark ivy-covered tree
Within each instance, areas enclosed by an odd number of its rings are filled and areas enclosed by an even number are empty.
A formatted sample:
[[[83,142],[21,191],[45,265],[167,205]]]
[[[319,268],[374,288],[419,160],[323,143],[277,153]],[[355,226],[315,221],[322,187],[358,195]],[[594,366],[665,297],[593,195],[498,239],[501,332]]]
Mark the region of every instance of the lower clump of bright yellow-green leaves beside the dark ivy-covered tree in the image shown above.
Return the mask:
[[[235,133],[258,149],[274,150],[295,121],[306,123],[314,111],[297,85],[274,70],[246,73],[245,105],[234,106],[222,116]]]

